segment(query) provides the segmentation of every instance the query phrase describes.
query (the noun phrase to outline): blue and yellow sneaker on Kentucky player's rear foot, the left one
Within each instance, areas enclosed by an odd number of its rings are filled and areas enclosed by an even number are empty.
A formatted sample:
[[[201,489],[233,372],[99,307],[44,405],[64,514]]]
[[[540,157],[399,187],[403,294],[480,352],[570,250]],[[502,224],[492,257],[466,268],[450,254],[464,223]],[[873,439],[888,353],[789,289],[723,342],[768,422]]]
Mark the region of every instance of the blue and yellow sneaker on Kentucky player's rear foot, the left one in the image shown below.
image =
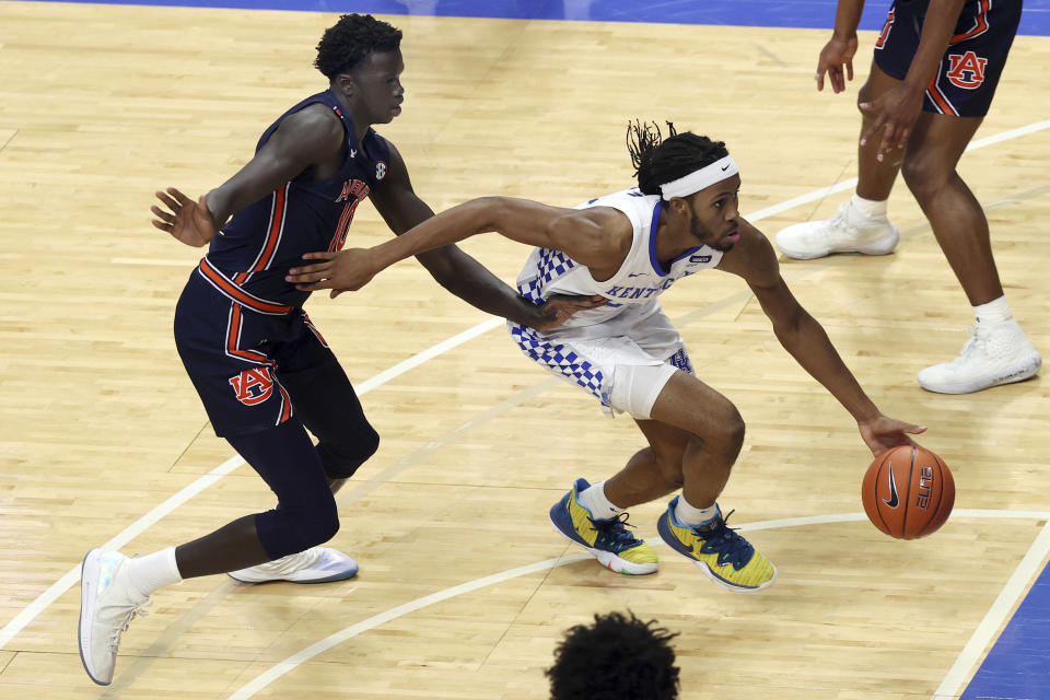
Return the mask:
[[[591,511],[580,505],[576,497],[590,486],[586,479],[576,479],[572,490],[550,508],[550,522],[558,532],[594,555],[609,571],[627,574],[656,571],[660,567],[656,552],[628,532],[627,513],[594,520]]]

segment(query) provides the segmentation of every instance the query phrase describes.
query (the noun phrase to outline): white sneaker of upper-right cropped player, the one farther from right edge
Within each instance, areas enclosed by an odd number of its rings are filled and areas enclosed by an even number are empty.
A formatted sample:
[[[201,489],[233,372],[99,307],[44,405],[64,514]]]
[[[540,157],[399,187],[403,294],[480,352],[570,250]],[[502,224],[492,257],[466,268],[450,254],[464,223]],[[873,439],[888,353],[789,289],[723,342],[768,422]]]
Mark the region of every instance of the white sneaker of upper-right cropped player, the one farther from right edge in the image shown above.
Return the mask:
[[[861,217],[847,201],[839,206],[839,213],[831,219],[781,229],[777,234],[777,247],[790,258],[809,260],[830,253],[886,255],[892,252],[899,240],[900,233],[889,219]]]

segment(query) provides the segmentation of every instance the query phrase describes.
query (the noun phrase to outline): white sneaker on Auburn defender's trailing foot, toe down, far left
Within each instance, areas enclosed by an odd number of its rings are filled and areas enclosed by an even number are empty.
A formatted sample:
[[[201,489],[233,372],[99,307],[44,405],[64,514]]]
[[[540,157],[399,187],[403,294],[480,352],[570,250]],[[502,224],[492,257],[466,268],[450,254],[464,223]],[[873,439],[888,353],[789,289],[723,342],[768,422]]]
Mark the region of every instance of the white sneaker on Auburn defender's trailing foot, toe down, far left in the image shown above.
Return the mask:
[[[120,633],[150,604],[128,581],[128,558],[92,549],[80,568],[80,661],[100,686],[113,680]]]

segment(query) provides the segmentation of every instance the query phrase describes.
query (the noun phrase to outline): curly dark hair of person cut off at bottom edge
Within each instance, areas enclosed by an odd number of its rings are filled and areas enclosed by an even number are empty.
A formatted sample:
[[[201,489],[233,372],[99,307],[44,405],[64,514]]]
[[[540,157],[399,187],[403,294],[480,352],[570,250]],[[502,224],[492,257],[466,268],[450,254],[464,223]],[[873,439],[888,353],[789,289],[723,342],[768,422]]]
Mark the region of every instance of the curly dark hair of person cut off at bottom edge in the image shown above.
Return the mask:
[[[675,637],[631,611],[595,615],[593,625],[570,628],[555,650],[546,670],[551,700],[675,700]]]

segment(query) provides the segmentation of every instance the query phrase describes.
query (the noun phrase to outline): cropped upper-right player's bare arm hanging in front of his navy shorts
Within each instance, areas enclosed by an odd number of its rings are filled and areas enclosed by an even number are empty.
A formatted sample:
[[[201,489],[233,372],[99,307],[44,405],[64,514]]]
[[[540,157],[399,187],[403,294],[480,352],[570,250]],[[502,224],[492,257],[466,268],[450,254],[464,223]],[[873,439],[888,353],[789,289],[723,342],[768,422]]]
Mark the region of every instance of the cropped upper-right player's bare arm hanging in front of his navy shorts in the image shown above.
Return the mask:
[[[926,86],[936,74],[948,42],[966,0],[930,0],[919,48],[905,80],[871,103],[859,106],[874,117],[874,122],[861,136],[861,145],[868,139],[878,139],[876,159],[882,161],[894,149],[903,149],[911,128],[922,114]]]

